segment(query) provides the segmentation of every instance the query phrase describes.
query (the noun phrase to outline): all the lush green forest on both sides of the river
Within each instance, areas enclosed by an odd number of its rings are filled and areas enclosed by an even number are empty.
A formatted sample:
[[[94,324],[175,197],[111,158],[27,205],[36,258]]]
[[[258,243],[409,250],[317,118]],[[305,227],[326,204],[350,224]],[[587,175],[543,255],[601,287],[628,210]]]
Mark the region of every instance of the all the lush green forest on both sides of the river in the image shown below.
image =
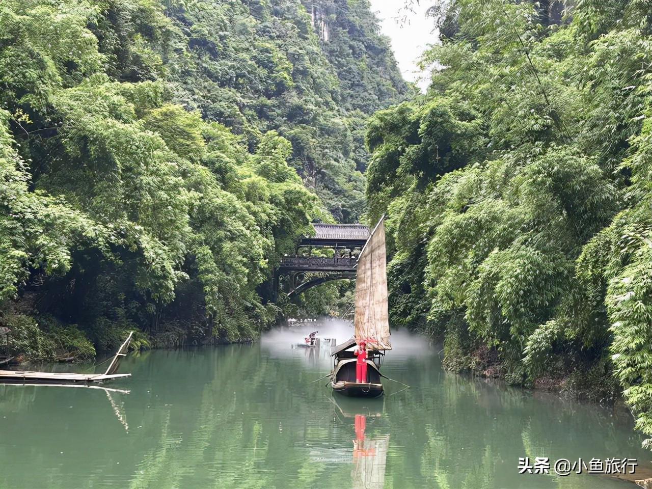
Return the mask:
[[[394,326],[456,372],[623,393],[652,434],[652,7],[430,13],[419,95],[367,0],[4,0],[10,354],[249,341],[346,305],[334,283],[271,303],[271,274],[311,221],[385,213]]]

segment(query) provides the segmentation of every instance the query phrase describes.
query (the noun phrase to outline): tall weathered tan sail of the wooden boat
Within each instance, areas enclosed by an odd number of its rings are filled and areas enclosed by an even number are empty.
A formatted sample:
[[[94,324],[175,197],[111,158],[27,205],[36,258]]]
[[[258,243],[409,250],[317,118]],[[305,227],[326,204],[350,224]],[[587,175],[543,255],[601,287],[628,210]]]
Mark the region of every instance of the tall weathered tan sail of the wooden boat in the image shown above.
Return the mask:
[[[366,340],[367,349],[392,349],[387,316],[387,263],[385,216],[364,245],[355,279],[355,339]]]

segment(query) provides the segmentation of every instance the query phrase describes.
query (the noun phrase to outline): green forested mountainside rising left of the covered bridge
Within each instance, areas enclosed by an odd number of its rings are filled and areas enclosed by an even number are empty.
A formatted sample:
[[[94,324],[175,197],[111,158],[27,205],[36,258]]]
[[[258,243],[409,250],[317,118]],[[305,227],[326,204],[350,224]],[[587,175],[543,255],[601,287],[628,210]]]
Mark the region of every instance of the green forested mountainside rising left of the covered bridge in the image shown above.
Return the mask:
[[[280,256],[363,212],[366,117],[412,91],[366,0],[3,1],[10,354],[255,338]]]

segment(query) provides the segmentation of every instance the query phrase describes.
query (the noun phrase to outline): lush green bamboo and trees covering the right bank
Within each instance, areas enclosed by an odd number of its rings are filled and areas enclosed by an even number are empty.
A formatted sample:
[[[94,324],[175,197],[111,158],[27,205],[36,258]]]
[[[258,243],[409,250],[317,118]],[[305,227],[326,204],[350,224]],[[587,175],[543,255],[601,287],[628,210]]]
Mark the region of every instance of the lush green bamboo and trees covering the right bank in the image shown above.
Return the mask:
[[[652,8],[552,4],[437,3],[427,95],[370,119],[391,322],[453,370],[622,390],[651,434]]]

